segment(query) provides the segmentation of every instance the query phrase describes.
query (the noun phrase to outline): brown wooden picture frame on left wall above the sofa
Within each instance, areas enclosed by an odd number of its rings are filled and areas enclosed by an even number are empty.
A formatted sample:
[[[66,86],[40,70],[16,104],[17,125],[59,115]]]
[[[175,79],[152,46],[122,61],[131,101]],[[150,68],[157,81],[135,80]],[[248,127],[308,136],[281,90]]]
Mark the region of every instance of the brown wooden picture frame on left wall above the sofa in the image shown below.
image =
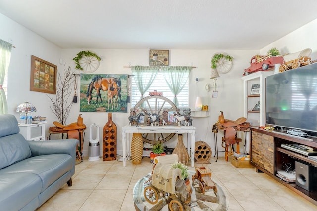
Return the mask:
[[[56,94],[56,73],[56,65],[32,55],[30,91]]]

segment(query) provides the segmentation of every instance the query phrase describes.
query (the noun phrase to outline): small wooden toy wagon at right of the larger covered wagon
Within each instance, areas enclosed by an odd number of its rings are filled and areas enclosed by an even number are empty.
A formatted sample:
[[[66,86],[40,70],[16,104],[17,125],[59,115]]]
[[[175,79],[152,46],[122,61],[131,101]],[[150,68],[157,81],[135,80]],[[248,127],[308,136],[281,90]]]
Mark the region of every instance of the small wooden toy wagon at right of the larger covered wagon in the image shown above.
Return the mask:
[[[199,180],[199,188],[202,194],[205,194],[205,191],[213,189],[213,192],[216,194],[218,192],[216,184],[211,180],[211,169],[208,167],[196,167],[196,173],[192,176],[193,184],[195,179]],[[193,185],[194,186],[194,185]]]

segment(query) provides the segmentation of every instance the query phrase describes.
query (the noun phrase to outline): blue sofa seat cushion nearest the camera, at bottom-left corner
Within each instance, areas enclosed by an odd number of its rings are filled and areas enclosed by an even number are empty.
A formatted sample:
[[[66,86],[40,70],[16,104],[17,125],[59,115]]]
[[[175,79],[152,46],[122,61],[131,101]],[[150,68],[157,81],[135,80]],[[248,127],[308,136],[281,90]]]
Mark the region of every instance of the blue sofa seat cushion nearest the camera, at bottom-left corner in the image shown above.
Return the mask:
[[[42,182],[33,173],[1,173],[0,188],[0,210],[17,211],[34,199],[39,203]]]

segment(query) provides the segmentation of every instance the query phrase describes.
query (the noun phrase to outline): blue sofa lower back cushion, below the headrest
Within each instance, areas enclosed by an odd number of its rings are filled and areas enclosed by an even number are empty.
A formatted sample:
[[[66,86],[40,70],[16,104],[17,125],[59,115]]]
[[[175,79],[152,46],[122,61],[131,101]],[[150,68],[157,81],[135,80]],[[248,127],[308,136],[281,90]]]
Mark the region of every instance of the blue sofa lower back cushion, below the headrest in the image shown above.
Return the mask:
[[[0,137],[0,169],[29,158],[31,155],[29,144],[21,134]]]

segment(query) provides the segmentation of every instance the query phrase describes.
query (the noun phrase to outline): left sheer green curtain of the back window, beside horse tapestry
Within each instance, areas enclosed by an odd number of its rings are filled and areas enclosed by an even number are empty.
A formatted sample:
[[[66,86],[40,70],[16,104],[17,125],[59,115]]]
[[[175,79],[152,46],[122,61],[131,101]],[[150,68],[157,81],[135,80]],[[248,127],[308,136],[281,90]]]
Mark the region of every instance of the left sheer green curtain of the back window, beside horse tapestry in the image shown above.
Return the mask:
[[[159,66],[131,66],[132,75],[143,99],[144,93],[150,88],[159,72]],[[150,78],[149,78],[150,77]]]

